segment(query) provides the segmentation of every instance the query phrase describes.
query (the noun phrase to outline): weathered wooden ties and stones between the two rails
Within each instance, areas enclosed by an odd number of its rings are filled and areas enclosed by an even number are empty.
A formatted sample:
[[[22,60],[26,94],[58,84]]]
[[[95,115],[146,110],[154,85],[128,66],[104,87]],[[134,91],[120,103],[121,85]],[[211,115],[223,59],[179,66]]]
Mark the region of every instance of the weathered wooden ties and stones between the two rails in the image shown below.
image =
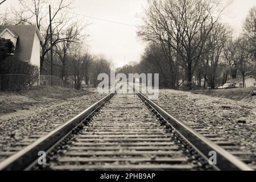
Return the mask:
[[[48,169],[210,169],[183,143],[136,94],[115,94]]]

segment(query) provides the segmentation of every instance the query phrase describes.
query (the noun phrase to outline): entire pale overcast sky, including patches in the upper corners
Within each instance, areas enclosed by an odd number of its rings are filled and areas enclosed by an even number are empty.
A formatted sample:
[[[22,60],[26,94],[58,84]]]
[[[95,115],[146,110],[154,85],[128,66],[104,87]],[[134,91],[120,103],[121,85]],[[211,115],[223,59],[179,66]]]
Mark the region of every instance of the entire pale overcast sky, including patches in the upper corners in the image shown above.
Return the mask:
[[[7,1],[5,6],[11,6],[15,1]],[[146,4],[147,0],[75,0],[73,5],[75,9],[69,11],[121,23],[110,23],[77,15],[78,18],[91,23],[86,29],[90,34],[87,44],[91,52],[106,55],[113,60],[115,67],[120,67],[129,61],[139,61],[143,53],[145,44],[137,38],[135,26],[139,24],[137,14],[142,13],[142,7]],[[234,0],[226,10],[222,21],[232,27],[235,34],[239,34],[245,16],[254,5],[256,5],[255,0]]]

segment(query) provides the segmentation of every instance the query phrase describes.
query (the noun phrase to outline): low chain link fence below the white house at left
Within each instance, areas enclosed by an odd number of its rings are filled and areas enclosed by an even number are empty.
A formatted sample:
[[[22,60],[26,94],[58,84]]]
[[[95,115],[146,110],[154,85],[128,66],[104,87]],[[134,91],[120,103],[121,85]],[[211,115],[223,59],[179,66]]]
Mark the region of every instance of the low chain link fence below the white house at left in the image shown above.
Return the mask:
[[[52,82],[52,84],[51,84]],[[64,84],[61,78],[55,76],[30,76],[22,74],[0,75],[0,90],[24,90],[33,86],[60,86],[72,88],[73,84]]]

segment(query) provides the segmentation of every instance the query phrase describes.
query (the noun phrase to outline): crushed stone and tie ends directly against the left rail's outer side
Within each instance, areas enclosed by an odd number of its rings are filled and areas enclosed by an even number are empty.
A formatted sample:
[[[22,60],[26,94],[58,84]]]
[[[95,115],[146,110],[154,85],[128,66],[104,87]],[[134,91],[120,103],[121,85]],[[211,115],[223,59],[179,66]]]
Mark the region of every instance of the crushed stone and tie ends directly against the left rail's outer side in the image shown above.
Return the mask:
[[[8,129],[10,127],[9,125],[13,125],[13,128],[16,129],[13,132],[13,136],[9,137],[9,140],[6,140],[5,143],[0,143],[0,163],[23,150],[44,135],[47,135],[52,130],[56,129],[56,127],[63,125],[67,119],[75,117],[82,110],[104,96],[105,95],[91,94],[90,96],[77,97],[65,101],[63,104],[57,104],[57,106],[55,105],[54,107],[51,106],[49,109],[52,110],[45,110],[43,114],[40,113],[40,110],[39,114],[21,117],[14,122],[10,119],[9,122],[11,124],[5,125],[5,127]],[[20,133],[22,133],[22,135]],[[22,137],[15,139],[17,134]]]

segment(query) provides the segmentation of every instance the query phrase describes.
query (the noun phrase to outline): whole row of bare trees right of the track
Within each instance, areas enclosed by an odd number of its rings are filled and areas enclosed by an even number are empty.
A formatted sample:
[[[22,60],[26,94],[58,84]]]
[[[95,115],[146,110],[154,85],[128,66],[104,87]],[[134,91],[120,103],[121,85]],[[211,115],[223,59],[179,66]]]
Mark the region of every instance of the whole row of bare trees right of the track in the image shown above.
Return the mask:
[[[194,86],[214,89],[216,78],[243,77],[255,71],[256,7],[243,23],[241,35],[221,23],[231,1],[150,0],[141,16],[138,36],[147,47],[136,65],[119,72],[159,73],[165,88],[190,90]],[[254,68],[254,69],[253,69]],[[204,83],[201,84],[204,80]]]

